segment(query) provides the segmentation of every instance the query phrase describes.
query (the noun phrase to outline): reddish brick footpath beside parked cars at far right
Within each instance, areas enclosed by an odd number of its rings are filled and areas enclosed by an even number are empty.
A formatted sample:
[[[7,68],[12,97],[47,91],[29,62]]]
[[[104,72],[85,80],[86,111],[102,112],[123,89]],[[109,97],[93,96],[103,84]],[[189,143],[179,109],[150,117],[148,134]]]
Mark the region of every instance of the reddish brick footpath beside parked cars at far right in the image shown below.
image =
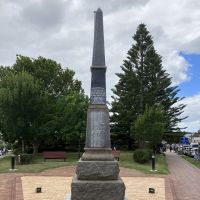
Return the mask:
[[[200,169],[174,152],[166,157],[174,200],[200,200]]]

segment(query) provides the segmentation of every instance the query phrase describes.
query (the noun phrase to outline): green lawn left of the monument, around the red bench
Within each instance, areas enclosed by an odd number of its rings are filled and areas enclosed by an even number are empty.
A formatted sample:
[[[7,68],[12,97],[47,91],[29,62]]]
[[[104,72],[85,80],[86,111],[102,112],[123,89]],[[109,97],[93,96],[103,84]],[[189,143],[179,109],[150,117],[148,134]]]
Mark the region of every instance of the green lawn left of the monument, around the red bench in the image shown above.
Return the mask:
[[[78,153],[68,152],[66,162],[63,159],[47,159],[46,162],[41,155],[35,157],[31,164],[28,165],[16,165],[18,169],[16,172],[41,172],[46,169],[62,167],[66,165],[75,165],[78,161]],[[7,156],[0,159],[0,173],[9,172],[11,168],[11,157]]]

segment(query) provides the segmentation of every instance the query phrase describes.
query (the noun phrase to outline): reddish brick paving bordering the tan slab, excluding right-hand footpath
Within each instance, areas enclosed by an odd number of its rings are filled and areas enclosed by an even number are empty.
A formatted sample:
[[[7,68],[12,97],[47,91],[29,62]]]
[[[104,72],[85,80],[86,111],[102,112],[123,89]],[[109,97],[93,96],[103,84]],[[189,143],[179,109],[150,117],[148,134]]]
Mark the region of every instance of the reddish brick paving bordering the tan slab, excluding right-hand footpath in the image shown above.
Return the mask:
[[[73,176],[75,174],[74,166],[65,166],[55,169],[49,169],[41,173],[5,173],[0,174],[0,200],[23,200],[22,193],[22,176]],[[120,176],[122,177],[147,177],[154,175],[147,175],[142,172],[120,168]],[[173,200],[169,179],[167,176],[156,176],[165,178],[166,200]]]

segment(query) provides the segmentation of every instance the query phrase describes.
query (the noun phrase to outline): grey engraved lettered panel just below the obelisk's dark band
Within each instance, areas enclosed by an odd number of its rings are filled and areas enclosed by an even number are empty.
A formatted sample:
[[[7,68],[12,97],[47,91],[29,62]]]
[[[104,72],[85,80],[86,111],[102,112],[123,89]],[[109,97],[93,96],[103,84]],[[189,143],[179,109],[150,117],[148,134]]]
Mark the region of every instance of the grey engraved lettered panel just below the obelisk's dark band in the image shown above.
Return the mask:
[[[91,104],[106,104],[106,90],[103,87],[91,88]]]

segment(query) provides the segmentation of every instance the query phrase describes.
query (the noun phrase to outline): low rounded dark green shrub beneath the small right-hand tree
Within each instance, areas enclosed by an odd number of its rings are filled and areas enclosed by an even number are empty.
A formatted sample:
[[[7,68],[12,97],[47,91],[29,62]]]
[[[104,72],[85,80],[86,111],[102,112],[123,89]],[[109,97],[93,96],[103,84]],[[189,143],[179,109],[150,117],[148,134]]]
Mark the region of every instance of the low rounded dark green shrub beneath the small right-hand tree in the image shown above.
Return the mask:
[[[133,153],[133,159],[137,163],[146,163],[151,159],[151,151],[149,149],[137,149]]]

